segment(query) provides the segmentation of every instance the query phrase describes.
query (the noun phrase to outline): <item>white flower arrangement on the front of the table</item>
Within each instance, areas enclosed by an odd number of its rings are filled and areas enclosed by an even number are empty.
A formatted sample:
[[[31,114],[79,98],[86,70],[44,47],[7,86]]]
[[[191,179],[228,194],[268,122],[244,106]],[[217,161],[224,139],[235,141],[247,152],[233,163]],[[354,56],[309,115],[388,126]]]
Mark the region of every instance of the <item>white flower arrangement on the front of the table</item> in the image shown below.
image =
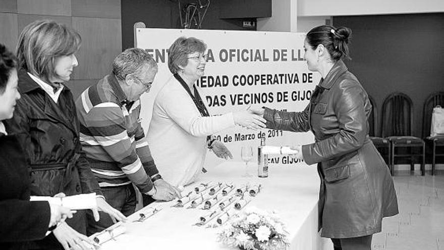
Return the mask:
[[[218,233],[219,241],[246,250],[287,249],[288,232],[275,213],[246,208]]]

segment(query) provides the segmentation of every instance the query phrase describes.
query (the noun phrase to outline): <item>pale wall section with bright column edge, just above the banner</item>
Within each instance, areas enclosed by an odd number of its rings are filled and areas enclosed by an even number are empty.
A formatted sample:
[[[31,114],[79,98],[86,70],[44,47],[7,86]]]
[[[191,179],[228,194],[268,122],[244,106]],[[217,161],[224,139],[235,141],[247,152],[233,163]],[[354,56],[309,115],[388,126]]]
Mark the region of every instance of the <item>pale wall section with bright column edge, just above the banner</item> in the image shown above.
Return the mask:
[[[271,17],[258,18],[258,31],[297,31],[297,1],[272,0]]]

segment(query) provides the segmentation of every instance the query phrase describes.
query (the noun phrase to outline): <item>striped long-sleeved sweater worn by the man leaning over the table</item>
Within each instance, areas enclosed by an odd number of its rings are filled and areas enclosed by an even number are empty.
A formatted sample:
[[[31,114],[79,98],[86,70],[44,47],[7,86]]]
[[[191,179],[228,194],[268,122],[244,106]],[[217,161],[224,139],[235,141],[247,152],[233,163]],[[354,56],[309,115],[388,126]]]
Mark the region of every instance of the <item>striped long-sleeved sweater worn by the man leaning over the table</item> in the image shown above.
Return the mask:
[[[114,74],[88,87],[76,101],[80,141],[100,187],[133,182],[151,190],[158,174],[140,124],[140,100],[128,102]]]

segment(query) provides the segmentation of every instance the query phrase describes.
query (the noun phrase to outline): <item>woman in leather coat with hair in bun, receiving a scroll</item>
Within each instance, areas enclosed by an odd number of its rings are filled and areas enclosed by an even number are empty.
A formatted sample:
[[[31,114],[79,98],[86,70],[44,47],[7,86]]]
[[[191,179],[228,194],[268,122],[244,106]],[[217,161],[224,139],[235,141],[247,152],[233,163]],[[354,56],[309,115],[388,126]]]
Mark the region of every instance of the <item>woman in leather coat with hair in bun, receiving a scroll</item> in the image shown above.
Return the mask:
[[[381,231],[383,217],[398,214],[392,177],[367,133],[371,112],[368,95],[348,71],[351,30],[318,26],[305,38],[305,60],[322,76],[302,112],[254,108],[267,128],[312,131],[315,142],[297,147],[297,157],[317,163],[321,178],[321,236],[336,249],[371,249],[372,234]]]

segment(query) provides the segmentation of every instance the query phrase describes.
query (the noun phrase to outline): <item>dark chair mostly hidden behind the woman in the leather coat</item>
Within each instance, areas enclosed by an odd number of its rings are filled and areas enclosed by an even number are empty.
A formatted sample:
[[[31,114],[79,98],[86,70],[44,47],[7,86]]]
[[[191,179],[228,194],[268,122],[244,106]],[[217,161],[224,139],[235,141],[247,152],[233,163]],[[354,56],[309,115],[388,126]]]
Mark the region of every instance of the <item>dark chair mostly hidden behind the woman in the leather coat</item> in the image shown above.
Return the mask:
[[[370,136],[370,140],[373,142],[376,149],[378,149],[379,153],[384,158],[385,163],[390,165],[390,141],[388,141],[386,138],[378,137],[378,109],[373,97],[369,95],[368,99],[370,100],[370,104],[372,106],[372,110],[368,118],[368,135]]]

